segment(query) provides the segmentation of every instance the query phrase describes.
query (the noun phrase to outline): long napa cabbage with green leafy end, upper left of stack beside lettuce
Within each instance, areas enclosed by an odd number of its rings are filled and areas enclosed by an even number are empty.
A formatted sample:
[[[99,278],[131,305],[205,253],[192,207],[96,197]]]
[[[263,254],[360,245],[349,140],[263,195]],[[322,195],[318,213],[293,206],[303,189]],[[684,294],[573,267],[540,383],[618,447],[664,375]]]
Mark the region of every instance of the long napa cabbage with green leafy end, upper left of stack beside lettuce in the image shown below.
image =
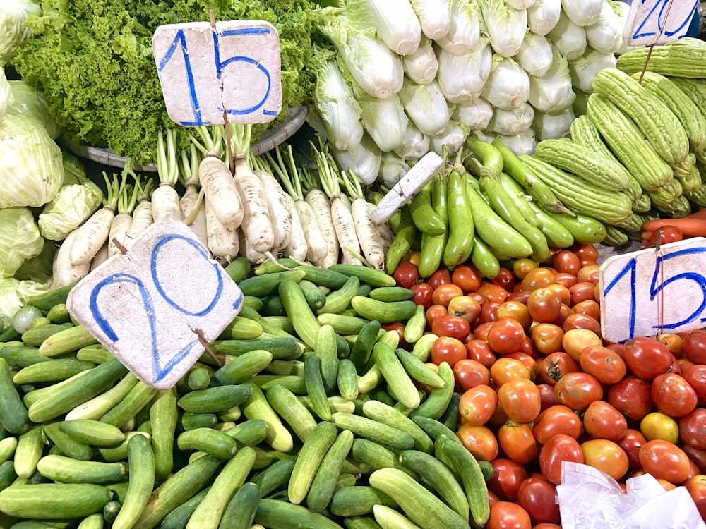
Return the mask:
[[[323,8],[319,29],[335,45],[337,57],[363,90],[386,99],[402,88],[402,60],[380,39],[355,28],[345,10]],[[343,70],[342,70],[343,71]]]

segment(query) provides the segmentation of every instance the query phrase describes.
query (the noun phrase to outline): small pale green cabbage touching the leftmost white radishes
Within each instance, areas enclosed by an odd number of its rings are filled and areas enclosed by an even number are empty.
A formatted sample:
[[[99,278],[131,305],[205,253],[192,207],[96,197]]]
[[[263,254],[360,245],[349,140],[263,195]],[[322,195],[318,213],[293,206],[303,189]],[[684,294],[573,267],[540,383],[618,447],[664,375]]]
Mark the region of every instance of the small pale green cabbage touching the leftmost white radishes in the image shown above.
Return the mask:
[[[100,188],[88,180],[62,186],[40,213],[40,233],[52,241],[63,241],[98,209],[102,199]]]

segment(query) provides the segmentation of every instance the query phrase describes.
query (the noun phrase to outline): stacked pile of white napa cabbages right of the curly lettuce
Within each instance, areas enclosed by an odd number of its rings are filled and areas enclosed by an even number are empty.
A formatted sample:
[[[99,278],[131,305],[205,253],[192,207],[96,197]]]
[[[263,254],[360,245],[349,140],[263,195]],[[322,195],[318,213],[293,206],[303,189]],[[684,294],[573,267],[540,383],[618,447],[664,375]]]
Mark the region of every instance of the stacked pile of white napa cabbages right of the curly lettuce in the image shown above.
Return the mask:
[[[455,152],[469,130],[518,154],[566,135],[597,71],[626,51],[616,1],[334,4],[318,13],[336,53],[314,61],[310,121],[364,183],[391,186],[407,160]]]

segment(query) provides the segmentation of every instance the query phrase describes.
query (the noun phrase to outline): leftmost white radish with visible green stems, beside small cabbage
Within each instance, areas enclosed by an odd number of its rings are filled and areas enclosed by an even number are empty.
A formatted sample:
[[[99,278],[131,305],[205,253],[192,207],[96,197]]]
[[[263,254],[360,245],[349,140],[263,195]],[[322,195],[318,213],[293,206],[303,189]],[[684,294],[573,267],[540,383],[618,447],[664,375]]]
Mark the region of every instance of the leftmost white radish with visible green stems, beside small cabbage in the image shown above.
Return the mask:
[[[68,258],[71,261],[71,266],[78,267],[81,265],[89,265],[100,250],[100,247],[105,243],[110,233],[110,224],[115,217],[115,208],[118,200],[119,183],[116,178],[109,181],[108,175],[103,172],[103,178],[107,186],[107,197],[104,200],[104,206],[92,214],[87,221],[78,226],[78,232],[71,244]]]

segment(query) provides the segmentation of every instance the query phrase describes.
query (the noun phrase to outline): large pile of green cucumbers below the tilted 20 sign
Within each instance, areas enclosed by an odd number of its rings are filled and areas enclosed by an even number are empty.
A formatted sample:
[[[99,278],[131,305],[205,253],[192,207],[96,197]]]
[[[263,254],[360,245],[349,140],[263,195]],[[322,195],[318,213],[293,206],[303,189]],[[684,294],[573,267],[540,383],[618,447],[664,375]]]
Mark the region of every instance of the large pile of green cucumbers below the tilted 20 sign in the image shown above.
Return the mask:
[[[164,391],[71,321],[71,287],[33,298],[47,317],[0,336],[0,528],[484,525],[492,467],[412,291],[280,265],[229,265],[244,307]]]

